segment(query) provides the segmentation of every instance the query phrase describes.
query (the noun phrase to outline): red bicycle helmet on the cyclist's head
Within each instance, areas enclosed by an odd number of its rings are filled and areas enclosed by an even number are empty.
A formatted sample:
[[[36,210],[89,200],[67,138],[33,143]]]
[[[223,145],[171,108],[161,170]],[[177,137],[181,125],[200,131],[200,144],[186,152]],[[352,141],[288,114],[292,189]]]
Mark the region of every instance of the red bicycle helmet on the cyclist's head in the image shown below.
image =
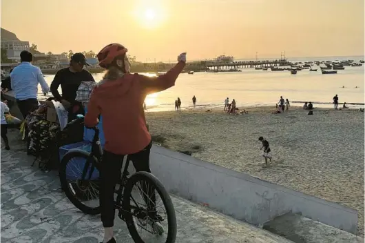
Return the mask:
[[[103,48],[96,57],[99,61],[99,66],[107,68],[112,64],[116,57],[124,55],[127,52],[127,48],[118,43],[112,43]]]

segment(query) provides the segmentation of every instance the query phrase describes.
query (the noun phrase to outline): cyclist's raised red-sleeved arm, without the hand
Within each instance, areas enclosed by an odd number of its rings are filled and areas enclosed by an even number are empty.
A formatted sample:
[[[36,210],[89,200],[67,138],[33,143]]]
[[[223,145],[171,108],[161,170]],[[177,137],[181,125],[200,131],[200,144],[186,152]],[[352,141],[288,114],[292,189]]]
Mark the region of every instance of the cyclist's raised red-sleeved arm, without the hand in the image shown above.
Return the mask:
[[[147,94],[160,92],[175,85],[175,81],[184,67],[185,62],[179,61],[178,64],[166,72],[165,75],[160,75],[158,77],[138,75],[138,79],[140,85],[145,88]]]

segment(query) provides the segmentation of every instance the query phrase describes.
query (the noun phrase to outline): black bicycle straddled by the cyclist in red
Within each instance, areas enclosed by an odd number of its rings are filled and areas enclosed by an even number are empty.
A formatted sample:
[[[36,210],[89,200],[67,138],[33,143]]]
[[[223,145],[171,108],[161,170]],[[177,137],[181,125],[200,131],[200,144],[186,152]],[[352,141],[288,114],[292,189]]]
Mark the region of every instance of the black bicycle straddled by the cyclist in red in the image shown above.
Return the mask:
[[[69,124],[72,125],[74,122],[83,123],[83,115],[77,115],[77,118]],[[83,202],[87,201],[85,197],[89,195],[92,196],[91,199],[94,202],[98,202],[98,171],[101,169],[103,150],[101,148],[98,128],[94,127],[92,129],[95,131],[95,135],[92,139],[91,152],[88,153],[81,149],[68,151],[61,159],[59,177],[63,191],[70,202],[85,214],[97,215],[101,211],[100,206],[94,207],[83,204]],[[79,159],[76,162],[72,162],[73,159],[77,158],[83,160]],[[167,238],[165,243],[174,243],[177,231],[176,215],[169,194],[163,184],[151,173],[137,172],[129,176],[127,170],[130,161],[131,159],[127,155],[123,173],[121,173],[121,178],[118,179],[118,188],[117,186],[114,188],[114,206],[118,210],[118,217],[126,222],[132,239],[137,243],[145,243],[138,233],[139,228],[158,237],[158,242],[163,242],[160,241],[160,238],[166,232],[163,229],[162,223],[167,220]],[[77,169],[81,175],[70,175],[70,166],[74,166],[74,168],[79,167]],[[72,179],[74,179],[74,182],[72,182]],[[145,182],[145,186],[143,186],[143,182]],[[136,190],[134,190],[134,186],[136,186]],[[154,192],[149,193],[147,191],[146,193],[146,190],[149,188],[154,189]],[[88,192],[89,189],[90,192]],[[138,190],[142,191],[142,195],[140,193],[139,195],[143,197],[139,201],[135,199],[136,191]],[[163,206],[166,208],[166,212],[164,213],[166,217],[161,216],[161,213],[156,211],[156,203],[153,203],[151,199],[147,198],[149,195],[152,195],[154,198],[156,195],[160,196]],[[149,205],[140,206],[140,201],[144,201]],[[151,205],[151,202],[154,205]],[[151,230],[147,229],[149,227]]]

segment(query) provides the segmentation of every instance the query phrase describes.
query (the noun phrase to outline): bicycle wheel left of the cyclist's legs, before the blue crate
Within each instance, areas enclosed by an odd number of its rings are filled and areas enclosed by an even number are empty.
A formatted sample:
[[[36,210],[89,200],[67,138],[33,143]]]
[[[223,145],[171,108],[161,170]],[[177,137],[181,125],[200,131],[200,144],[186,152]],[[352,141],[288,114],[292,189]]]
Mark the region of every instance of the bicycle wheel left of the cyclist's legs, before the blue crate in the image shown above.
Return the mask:
[[[63,156],[59,168],[61,186],[67,198],[83,213],[100,213],[99,172],[96,158],[83,150],[72,150]],[[85,178],[83,170],[88,166]]]

